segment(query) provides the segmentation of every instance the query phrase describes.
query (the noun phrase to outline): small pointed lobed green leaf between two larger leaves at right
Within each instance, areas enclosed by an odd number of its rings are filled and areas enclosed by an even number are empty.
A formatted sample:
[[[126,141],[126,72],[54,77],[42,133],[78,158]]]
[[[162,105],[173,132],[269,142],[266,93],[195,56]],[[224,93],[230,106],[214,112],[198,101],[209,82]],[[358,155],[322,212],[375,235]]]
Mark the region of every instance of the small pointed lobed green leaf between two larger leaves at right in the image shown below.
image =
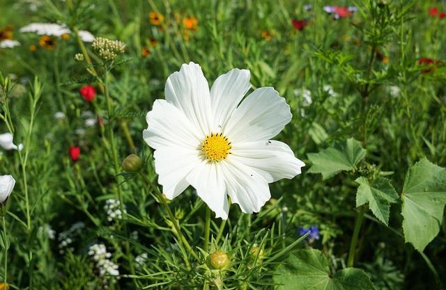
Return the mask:
[[[356,191],[356,207],[369,202],[371,212],[376,218],[387,225],[389,223],[390,204],[397,202],[399,196],[390,184],[389,179],[378,177],[371,183],[365,177],[355,180],[360,186]]]

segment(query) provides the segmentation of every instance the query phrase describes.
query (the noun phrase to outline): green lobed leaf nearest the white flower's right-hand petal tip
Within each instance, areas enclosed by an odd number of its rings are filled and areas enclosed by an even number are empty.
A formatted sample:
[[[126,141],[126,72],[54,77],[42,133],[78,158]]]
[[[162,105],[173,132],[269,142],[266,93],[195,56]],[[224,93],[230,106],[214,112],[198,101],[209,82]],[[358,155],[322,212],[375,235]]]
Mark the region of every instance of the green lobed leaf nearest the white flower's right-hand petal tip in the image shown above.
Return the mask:
[[[322,173],[323,179],[327,179],[342,170],[354,170],[364,158],[365,152],[357,140],[350,138],[319,153],[309,153],[308,158],[313,165],[308,172]]]

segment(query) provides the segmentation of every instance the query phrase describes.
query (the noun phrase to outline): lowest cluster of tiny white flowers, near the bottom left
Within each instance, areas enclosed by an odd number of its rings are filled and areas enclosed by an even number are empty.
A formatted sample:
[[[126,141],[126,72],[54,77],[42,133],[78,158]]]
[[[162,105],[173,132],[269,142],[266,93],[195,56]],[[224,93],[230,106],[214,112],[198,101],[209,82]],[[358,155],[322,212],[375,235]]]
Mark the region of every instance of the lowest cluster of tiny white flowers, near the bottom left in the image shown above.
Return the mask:
[[[110,276],[119,275],[118,265],[109,259],[112,257],[112,254],[107,252],[107,248],[105,248],[103,243],[92,245],[89,249],[89,255],[93,257],[99,276],[103,279],[103,287],[107,289],[108,280],[115,281],[114,277]]]

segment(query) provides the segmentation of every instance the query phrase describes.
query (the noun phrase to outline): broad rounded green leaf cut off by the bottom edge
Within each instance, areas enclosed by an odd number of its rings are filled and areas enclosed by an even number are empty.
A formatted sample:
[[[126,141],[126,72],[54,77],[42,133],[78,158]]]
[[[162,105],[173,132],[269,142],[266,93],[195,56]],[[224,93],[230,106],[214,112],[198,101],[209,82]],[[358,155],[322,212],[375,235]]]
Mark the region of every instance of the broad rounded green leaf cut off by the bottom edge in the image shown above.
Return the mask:
[[[278,290],[376,290],[364,271],[345,268],[330,274],[328,260],[320,250],[300,250],[277,267]]]

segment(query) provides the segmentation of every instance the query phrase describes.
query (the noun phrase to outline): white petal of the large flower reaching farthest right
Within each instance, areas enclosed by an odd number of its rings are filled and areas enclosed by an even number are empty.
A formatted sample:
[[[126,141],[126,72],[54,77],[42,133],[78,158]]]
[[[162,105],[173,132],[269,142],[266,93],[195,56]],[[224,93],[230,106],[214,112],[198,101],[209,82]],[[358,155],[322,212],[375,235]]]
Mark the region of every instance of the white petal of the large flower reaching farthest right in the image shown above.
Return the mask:
[[[254,168],[268,183],[300,174],[305,163],[285,143],[268,140],[233,146],[231,159]]]

